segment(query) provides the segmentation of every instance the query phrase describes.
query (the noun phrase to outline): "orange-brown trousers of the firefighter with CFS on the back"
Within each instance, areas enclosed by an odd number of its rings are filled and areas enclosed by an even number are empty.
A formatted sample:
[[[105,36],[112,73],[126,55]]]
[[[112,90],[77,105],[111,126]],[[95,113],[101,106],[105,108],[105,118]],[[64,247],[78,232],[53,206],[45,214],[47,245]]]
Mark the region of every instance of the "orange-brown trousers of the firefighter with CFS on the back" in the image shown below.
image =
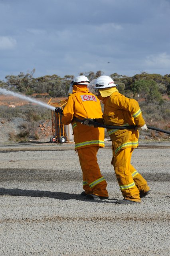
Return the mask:
[[[83,189],[86,194],[108,196],[107,182],[101,175],[97,163],[99,146],[77,149],[81,170],[83,172]]]

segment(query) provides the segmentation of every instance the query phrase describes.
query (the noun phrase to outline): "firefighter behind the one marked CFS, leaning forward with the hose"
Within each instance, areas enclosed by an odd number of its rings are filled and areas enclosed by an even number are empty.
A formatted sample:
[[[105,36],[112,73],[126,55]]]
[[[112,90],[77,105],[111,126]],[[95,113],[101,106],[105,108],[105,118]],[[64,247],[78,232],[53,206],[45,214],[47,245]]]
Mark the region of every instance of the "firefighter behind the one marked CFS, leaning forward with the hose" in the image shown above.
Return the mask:
[[[105,104],[103,112],[105,125],[134,125],[147,130],[138,102],[120,94],[111,77],[100,76],[95,80],[94,88],[99,90],[101,95],[98,98],[103,99]],[[112,164],[124,197],[123,200],[118,200],[118,203],[140,203],[140,198],[149,194],[150,188],[142,175],[130,164],[132,152],[138,146],[138,129],[107,131],[113,146]]]

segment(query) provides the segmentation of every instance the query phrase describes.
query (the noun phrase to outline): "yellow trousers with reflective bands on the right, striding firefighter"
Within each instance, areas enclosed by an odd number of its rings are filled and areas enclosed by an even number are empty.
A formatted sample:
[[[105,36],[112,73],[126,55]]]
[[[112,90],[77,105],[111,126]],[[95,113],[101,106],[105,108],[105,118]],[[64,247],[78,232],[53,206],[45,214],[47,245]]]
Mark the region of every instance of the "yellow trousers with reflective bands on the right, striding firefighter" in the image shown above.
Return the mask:
[[[113,156],[112,164],[123,197],[127,200],[140,202],[140,192],[147,192],[150,188],[146,180],[130,164],[134,148],[120,150],[117,156]]]

